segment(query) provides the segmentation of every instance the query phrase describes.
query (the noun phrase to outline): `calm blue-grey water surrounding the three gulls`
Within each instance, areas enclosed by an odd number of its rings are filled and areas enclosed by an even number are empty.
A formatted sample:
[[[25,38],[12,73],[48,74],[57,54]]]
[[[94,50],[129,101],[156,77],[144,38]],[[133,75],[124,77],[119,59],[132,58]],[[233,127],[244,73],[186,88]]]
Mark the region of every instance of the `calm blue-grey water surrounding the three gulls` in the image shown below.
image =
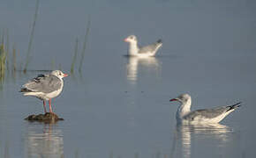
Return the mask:
[[[53,100],[64,121],[23,118],[42,103],[23,97],[23,83],[40,71],[6,73],[0,89],[0,157],[170,158],[253,157],[256,115],[256,3],[222,1],[40,1],[29,69],[69,73],[75,39],[79,55],[91,31],[83,72],[64,78]],[[24,63],[35,1],[2,0],[0,29]],[[127,58],[123,39],[163,40],[151,59]],[[76,67],[76,69],[78,69]],[[216,126],[176,126],[177,104],[192,95],[192,110],[242,101]]]

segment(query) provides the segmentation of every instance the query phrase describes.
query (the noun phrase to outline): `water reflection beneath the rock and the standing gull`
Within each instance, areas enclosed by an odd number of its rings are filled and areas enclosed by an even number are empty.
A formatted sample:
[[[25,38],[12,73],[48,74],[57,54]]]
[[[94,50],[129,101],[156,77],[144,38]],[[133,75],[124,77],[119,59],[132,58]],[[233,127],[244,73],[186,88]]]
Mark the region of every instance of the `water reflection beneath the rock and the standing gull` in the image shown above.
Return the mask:
[[[64,136],[52,124],[29,124],[26,135],[26,157],[64,157]]]

